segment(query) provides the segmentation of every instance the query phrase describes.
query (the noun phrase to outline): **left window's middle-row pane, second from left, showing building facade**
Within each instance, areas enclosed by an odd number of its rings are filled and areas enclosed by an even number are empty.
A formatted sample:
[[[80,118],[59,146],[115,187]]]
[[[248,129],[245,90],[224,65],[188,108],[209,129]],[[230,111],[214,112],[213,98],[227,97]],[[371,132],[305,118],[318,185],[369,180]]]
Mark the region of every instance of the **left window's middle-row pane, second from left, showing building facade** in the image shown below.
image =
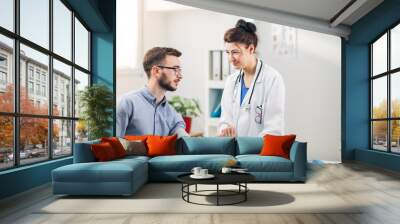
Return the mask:
[[[21,44],[21,113],[48,114],[49,57]]]

